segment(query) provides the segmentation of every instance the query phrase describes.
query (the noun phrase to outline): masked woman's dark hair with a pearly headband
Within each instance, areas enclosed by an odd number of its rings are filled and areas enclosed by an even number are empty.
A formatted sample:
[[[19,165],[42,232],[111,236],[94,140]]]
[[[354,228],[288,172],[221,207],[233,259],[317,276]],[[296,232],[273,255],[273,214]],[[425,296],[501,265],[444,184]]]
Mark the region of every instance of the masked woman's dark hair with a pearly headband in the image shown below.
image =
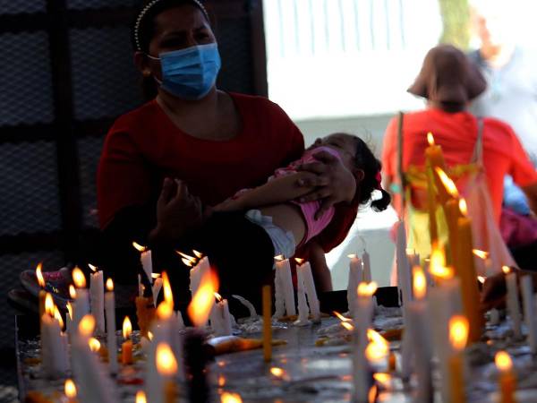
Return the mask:
[[[186,4],[198,7],[211,24],[209,13],[198,0],[146,0],[132,21],[131,42],[134,51],[149,53],[149,43],[157,29],[155,18],[158,14]],[[153,77],[142,77],[141,90],[146,100],[154,99],[157,96],[157,84]]]

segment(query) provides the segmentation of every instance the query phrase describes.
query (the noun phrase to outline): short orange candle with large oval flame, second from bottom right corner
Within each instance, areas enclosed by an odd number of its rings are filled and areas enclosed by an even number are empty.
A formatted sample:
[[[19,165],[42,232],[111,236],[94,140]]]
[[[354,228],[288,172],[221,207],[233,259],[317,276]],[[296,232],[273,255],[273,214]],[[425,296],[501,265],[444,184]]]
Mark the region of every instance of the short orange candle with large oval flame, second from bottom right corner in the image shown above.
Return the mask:
[[[449,358],[449,382],[442,388],[448,390],[449,400],[465,403],[465,364],[463,351],[468,340],[469,324],[465,316],[456,315],[449,320],[449,341],[453,353]],[[446,383],[446,379],[442,379]]]

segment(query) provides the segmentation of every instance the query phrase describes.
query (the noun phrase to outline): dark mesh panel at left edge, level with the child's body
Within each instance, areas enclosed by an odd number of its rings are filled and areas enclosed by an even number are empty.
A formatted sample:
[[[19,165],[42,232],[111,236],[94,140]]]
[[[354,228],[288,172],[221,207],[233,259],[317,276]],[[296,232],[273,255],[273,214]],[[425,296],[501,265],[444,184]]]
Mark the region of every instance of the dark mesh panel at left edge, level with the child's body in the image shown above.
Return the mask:
[[[0,172],[0,235],[60,228],[54,143],[3,144]]]

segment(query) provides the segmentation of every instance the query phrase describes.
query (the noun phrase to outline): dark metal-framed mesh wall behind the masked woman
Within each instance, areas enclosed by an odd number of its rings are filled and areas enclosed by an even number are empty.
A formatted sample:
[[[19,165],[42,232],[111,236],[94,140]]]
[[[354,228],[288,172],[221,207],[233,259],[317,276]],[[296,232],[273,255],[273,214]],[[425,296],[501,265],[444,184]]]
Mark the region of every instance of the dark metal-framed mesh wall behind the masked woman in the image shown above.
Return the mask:
[[[2,304],[21,270],[76,262],[81,238],[97,226],[104,137],[116,116],[142,103],[129,37],[139,4],[0,0]],[[216,20],[220,88],[266,95],[261,0],[205,4]],[[13,356],[13,310],[0,309],[0,323],[0,353]],[[4,360],[0,384],[14,382],[12,364]]]

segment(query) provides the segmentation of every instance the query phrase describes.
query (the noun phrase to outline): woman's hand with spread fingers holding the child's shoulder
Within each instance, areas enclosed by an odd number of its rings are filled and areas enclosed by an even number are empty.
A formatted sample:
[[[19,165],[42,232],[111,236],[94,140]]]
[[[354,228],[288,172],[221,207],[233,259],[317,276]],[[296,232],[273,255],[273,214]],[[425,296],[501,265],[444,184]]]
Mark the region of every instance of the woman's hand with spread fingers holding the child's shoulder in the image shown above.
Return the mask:
[[[315,218],[318,219],[334,204],[353,200],[354,193],[356,193],[356,180],[353,173],[337,157],[327,151],[320,151],[314,154],[314,157],[319,161],[300,165],[296,169],[315,174],[311,179],[299,180],[297,184],[314,188],[299,201],[321,201],[320,209],[315,214]]]

